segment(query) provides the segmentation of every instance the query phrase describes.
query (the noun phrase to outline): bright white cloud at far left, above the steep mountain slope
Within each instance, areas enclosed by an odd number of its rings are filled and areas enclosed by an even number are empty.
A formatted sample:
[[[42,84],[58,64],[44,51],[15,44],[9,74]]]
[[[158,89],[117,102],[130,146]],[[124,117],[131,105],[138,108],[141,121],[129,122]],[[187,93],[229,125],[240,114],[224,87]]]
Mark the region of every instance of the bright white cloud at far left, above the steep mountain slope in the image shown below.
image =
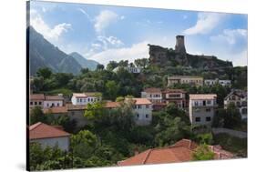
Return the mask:
[[[32,25],[37,32],[44,35],[46,39],[50,41],[57,41],[60,35],[66,33],[67,30],[71,28],[71,25],[67,23],[62,23],[50,27],[43,20],[42,16],[36,12],[36,10],[31,11],[30,25]]]

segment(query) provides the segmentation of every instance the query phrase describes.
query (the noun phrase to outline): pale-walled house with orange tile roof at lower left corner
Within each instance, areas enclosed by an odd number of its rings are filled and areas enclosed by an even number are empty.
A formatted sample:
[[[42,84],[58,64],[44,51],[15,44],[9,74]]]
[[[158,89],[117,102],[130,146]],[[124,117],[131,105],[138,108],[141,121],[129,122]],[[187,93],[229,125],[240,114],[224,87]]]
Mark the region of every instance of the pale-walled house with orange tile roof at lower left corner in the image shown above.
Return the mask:
[[[70,134],[56,126],[38,122],[29,126],[29,142],[39,143],[42,147],[59,147],[69,150]]]

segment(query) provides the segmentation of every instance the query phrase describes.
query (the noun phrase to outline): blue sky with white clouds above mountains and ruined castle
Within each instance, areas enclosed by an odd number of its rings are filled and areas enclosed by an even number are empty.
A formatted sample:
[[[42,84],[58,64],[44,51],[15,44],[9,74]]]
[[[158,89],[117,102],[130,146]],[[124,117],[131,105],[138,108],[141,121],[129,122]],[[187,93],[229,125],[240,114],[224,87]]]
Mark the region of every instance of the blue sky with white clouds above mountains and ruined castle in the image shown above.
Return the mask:
[[[185,35],[189,54],[247,66],[247,15],[40,1],[29,13],[53,45],[103,65],[148,57],[148,44],[174,48],[175,36]]]

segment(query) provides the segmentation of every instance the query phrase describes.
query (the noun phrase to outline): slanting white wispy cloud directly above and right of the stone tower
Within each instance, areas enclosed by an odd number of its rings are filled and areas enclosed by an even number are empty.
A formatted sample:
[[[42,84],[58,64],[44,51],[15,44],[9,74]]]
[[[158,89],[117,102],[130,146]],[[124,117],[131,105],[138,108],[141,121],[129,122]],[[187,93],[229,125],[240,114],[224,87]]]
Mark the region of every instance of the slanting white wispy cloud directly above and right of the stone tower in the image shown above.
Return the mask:
[[[212,29],[220,24],[225,15],[217,13],[199,13],[196,25],[186,29],[186,35],[208,34]]]

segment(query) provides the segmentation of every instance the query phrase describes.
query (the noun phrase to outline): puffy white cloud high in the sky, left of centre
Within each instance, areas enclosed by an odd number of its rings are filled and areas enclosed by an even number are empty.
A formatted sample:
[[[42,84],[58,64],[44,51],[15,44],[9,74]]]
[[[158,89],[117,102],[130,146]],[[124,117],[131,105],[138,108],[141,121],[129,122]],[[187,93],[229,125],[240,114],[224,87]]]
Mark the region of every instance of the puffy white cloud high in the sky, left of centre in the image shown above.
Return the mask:
[[[117,22],[118,20],[124,19],[125,16],[119,16],[118,14],[109,11],[109,10],[103,10],[100,12],[99,15],[95,18],[95,29],[97,33],[102,32],[104,29],[108,27],[108,25]]]

